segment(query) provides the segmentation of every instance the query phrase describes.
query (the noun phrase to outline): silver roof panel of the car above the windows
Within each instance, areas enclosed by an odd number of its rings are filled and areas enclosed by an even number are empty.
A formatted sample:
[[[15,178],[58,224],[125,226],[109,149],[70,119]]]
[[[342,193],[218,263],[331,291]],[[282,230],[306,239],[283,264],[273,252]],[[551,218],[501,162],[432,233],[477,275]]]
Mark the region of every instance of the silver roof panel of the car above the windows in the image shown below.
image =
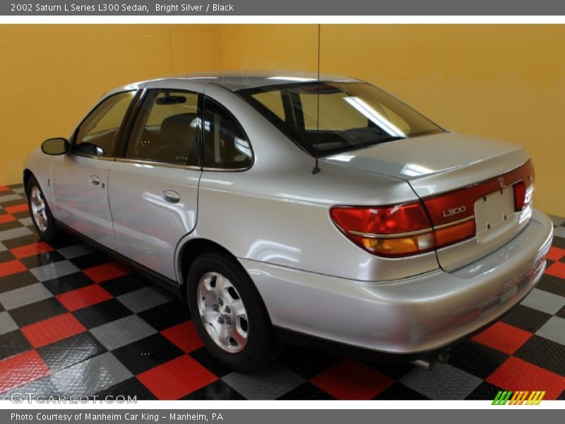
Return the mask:
[[[355,78],[338,75],[328,75],[321,73],[320,81],[326,82],[358,82]],[[302,71],[283,71],[283,70],[264,70],[264,71],[213,71],[201,73],[186,73],[182,75],[167,76],[165,78],[155,78],[150,81],[159,81],[163,79],[174,80],[191,80],[198,79],[206,82],[213,83],[217,86],[226,88],[230,91],[243,90],[245,88],[257,88],[263,86],[273,86],[275,84],[284,83],[300,83],[308,81],[318,81],[318,74],[315,72],[302,72]],[[149,81],[143,81],[143,83]],[[131,88],[138,83],[129,84],[128,86],[121,86],[120,88],[112,90],[124,90],[124,88]]]

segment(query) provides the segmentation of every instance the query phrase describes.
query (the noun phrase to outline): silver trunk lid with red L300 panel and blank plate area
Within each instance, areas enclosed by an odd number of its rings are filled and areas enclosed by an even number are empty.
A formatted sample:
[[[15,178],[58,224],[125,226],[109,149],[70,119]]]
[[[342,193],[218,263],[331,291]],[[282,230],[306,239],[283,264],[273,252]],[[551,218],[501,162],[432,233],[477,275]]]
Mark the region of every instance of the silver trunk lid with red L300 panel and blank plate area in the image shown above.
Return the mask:
[[[521,146],[462,134],[391,141],[324,160],[407,181],[424,201],[434,228],[475,220],[475,237],[436,250],[446,271],[509,242],[528,223],[531,204],[516,211],[514,185],[533,191],[533,167]],[[322,166],[323,169],[323,166]]]

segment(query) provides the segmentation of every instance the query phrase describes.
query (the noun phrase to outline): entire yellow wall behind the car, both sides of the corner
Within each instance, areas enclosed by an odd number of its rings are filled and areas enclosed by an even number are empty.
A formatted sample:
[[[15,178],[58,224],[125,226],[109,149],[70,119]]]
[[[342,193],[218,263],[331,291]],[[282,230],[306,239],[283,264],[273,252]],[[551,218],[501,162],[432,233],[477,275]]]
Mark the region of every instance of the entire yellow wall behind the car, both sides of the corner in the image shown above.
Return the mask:
[[[317,25],[0,25],[0,183],[19,182],[25,154],[68,135],[112,86],[205,69],[316,71],[317,35]],[[565,216],[564,48],[565,25],[322,25],[321,71],[376,83],[451,131],[523,144],[536,206]]]

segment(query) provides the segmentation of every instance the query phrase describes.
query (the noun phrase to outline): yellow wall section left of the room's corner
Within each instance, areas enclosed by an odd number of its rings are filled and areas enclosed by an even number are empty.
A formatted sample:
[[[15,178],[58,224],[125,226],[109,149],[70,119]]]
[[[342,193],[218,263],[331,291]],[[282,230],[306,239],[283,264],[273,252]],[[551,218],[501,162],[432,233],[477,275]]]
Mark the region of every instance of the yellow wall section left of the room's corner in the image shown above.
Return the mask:
[[[109,89],[182,72],[188,57],[187,71],[220,66],[217,33],[215,25],[0,25],[0,185],[20,182],[25,155],[68,137]]]

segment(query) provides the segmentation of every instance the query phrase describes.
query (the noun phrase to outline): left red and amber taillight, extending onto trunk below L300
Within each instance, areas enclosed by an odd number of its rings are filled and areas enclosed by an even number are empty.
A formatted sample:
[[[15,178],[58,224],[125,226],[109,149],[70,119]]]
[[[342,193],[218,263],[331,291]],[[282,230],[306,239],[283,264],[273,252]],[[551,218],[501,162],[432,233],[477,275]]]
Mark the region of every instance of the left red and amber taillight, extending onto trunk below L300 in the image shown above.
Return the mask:
[[[333,206],[330,215],[356,245],[383,257],[429,252],[475,235],[475,220],[434,229],[420,202],[395,206]]]

